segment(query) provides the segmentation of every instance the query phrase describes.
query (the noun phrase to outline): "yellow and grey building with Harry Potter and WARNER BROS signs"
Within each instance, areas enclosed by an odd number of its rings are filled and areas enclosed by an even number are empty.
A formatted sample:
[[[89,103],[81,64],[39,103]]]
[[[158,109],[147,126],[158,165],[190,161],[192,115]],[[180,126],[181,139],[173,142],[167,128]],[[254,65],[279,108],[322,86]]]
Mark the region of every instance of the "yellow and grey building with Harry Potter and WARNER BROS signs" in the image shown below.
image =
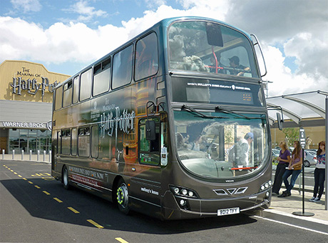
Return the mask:
[[[0,64],[1,153],[51,150],[53,90],[68,77],[30,61]]]

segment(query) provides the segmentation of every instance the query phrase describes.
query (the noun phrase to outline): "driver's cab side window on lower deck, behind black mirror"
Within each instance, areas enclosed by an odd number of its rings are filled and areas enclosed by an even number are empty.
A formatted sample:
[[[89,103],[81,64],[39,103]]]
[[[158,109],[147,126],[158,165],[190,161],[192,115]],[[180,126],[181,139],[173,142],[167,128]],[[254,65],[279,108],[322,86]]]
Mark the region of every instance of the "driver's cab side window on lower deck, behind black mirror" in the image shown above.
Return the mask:
[[[139,123],[139,162],[141,164],[158,165],[160,162],[160,122],[155,118],[155,140],[146,139],[145,121]]]

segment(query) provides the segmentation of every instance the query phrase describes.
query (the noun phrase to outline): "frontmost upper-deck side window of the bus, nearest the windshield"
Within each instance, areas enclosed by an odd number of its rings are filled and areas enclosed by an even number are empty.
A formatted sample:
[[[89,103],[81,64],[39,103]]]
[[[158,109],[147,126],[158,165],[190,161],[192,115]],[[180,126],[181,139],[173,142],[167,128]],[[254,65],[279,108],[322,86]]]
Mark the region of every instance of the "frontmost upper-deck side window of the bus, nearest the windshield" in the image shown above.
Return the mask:
[[[158,41],[153,32],[140,39],[135,47],[135,81],[153,76],[158,71]]]

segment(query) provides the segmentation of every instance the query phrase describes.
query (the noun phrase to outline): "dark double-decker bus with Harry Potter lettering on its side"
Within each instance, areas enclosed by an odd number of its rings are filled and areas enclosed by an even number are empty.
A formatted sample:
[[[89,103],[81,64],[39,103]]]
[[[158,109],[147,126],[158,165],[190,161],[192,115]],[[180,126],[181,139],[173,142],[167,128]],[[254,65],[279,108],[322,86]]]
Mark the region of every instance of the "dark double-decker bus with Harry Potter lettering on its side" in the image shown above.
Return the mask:
[[[164,19],[71,76],[54,93],[52,176],[125,214],[185,219],[269,207],[271,138],[255,44],[214,19]]]

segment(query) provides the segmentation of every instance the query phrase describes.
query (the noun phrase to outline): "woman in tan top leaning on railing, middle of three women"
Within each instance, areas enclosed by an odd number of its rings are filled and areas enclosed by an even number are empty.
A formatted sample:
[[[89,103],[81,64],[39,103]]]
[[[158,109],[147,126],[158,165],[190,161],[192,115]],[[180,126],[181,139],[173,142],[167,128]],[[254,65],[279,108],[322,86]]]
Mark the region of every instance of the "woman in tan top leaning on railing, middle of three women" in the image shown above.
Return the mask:
[[[296,182],[296,179],[302,171],[303,164],[303,150],[299,141],[294,141],[294,150],[292,152],[292,160],[289,162],[289,167],[287,168],[282,179],[285,183],[286,191],[282,192],[278,197],[289,197],[291,195],[292,188]],[[292,175],[290,179],[290,184],[288,182],[288,177]]]

